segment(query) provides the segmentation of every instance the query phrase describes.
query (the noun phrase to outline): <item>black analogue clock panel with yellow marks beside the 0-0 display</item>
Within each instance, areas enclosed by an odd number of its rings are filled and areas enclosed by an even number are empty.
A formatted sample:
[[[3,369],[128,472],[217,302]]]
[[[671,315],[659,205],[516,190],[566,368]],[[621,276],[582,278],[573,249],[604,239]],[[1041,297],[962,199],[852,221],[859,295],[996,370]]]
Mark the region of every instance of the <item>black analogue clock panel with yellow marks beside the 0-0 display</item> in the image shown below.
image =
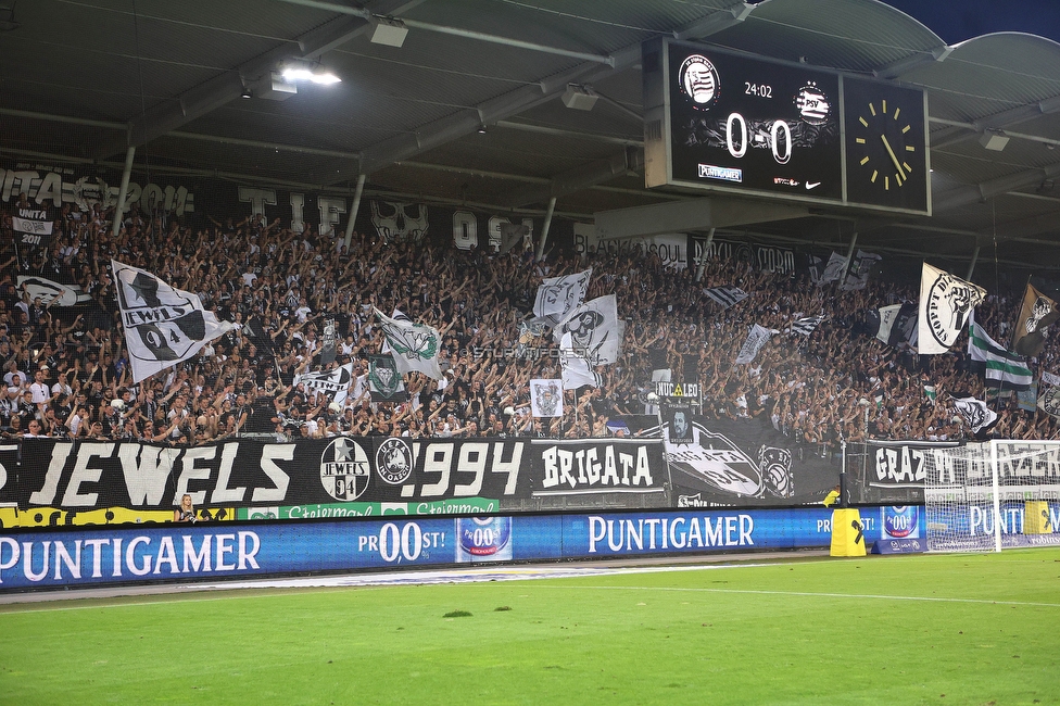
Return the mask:
[[[847,201],[926,213],[924,96],[844,79]]]

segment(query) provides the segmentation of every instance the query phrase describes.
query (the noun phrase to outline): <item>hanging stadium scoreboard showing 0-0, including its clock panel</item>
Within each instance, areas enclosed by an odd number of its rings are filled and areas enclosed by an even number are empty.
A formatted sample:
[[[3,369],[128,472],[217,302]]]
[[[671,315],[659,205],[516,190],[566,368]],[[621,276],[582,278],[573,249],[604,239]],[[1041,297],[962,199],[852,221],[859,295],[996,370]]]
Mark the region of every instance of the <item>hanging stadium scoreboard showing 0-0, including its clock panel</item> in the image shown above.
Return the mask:
[[[931,214],[922,90],[669,39],[643,54],[647,187]]]

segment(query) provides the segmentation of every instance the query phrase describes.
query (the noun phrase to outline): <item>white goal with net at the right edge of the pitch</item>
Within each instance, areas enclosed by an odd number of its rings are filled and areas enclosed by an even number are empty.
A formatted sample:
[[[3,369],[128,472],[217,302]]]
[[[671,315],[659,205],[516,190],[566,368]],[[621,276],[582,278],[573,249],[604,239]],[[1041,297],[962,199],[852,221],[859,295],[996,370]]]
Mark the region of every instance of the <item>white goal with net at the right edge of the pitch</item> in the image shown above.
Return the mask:
[[[1060,441],[990,441],[925,455],[928,551],[1060,545]]]

